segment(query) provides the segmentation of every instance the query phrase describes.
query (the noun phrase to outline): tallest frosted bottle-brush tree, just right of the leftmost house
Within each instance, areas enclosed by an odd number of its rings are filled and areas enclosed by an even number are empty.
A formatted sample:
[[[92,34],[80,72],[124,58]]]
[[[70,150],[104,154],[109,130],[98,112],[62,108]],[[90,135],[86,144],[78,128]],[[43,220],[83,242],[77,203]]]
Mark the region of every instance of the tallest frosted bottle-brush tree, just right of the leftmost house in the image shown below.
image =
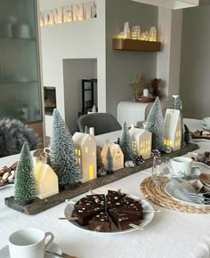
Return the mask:
[[[76,161],[75,144],[69,129],[57,109],[52,115],[52,137],[50,141],[51,165],[57,173],[61,186],[75,185],[81,178]]]

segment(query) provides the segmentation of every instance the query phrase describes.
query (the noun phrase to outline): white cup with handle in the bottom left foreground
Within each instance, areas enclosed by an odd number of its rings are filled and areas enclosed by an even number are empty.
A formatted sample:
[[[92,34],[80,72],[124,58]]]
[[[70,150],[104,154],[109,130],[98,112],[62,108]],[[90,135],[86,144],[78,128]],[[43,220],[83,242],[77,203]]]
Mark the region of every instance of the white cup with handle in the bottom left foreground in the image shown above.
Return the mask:
[[[46,241],[46,238],[49,240]],[[44,249],[52,244],[54,236],[51,232],[38,229],[23,229],[12,233],[9,237],[11,258],[44,258]]]

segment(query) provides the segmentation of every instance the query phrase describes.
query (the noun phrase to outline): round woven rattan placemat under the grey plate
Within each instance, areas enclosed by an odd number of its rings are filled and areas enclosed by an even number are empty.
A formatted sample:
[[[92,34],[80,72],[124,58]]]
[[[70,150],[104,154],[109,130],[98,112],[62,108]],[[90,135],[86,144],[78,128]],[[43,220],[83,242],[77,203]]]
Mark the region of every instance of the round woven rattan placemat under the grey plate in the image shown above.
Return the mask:
[[[166,194],[165,188],[158,186],[150,176],[141,182],[140,189],[143,196],[147,196],[149,201],[158,206],[190,214],[210,214],[210,206],[187,206],[174,200]]]

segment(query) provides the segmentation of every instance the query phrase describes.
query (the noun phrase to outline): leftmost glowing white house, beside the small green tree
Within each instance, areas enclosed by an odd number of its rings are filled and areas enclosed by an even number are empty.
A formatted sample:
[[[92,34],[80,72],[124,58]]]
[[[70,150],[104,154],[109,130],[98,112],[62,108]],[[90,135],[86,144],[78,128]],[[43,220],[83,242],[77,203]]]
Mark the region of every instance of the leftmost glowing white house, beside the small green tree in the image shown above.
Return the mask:
[[[50,165],[39,162],[35,170],[37,198],[44,199],[59,193],[57,174]]]

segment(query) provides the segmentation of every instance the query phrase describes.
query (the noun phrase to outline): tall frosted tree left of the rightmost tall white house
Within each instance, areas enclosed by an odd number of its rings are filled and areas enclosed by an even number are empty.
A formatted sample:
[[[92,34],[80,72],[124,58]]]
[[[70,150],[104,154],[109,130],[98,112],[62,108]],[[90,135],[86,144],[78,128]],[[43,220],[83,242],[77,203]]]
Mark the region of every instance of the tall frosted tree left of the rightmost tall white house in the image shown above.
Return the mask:
[[[152,133],[152,149],[171,152],[169,147],[164,145],[164,117],[159,98],[154,101],[144,128]]]

